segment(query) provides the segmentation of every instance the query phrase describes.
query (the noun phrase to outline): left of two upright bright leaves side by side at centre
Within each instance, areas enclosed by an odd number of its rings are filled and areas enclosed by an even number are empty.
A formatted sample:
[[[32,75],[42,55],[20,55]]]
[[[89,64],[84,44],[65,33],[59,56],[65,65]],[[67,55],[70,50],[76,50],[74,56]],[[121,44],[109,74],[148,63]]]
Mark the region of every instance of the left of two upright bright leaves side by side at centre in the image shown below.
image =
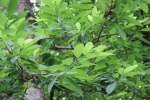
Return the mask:
[[[73,54],[78,58],[82,54],[83,49],[84,49],[84,45],[78,44],[74,47]]]

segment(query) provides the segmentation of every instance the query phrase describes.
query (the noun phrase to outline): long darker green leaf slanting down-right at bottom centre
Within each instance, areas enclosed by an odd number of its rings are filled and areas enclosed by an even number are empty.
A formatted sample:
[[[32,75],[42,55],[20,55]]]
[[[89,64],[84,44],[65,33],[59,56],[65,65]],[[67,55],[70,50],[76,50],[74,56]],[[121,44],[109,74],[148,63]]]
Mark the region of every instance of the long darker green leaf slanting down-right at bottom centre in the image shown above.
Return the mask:
[[[81,90],[81,88],[78,86],[78,84],[76,82],[74,82],[70,77],[65,76],[64,77],[66,82],[74,89],[76,90],[81,96],[83,96],[83,91]]]

